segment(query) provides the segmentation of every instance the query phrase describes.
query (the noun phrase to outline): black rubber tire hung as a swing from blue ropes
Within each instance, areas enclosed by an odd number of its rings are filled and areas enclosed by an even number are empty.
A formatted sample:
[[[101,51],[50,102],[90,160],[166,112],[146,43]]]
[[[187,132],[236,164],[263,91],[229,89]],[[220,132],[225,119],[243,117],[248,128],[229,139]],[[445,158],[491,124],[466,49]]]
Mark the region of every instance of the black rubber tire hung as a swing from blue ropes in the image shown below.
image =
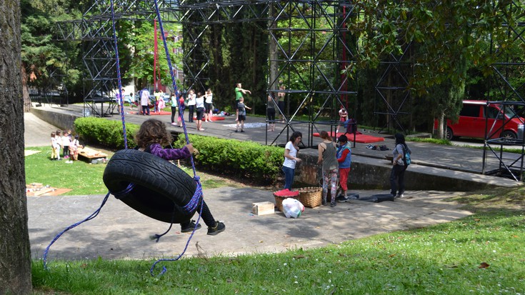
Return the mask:
[[[111,157],[103,176],[111,194],[134,189],[116,196],[131,208],[153,219],[180,224],[189,221],[195,211],[186,213],[196,182],[171,162],[135,149],[117,151]]]

